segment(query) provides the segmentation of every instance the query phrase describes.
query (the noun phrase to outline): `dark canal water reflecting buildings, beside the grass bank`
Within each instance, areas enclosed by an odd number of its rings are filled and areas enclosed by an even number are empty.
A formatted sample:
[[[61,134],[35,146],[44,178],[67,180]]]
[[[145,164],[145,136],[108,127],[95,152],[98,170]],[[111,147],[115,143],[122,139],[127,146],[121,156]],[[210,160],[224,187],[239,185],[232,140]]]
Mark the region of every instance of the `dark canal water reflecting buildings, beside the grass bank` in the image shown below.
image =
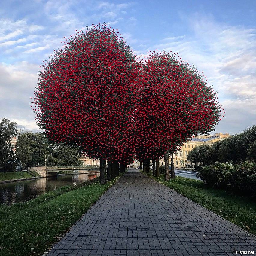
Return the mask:
[[[38,178],[26,181],[16,181],[0,184],[0,203],[12,205],[26,202],[51,190],[63,186],[75,186],[84,181],[99,177],[100,173],[87,173],[75,175],[58,175],[47,178]]]

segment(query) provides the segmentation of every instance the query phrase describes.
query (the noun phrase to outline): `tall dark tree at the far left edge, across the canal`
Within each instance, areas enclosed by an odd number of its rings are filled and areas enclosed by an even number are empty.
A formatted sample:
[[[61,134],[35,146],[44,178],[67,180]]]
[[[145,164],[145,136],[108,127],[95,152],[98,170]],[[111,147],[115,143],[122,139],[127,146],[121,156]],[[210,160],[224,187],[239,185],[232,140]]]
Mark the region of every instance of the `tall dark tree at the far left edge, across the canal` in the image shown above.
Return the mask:
[[[17,136],[17,126],[15,122],[10,122],[7,118],[3,118],[0,122],[0,141],[3,145],[1,149],[2,168],[7,170],[15,169],[15,146],[11,143],[12,138]],[[4,145],[5,143],[5,145]]]

